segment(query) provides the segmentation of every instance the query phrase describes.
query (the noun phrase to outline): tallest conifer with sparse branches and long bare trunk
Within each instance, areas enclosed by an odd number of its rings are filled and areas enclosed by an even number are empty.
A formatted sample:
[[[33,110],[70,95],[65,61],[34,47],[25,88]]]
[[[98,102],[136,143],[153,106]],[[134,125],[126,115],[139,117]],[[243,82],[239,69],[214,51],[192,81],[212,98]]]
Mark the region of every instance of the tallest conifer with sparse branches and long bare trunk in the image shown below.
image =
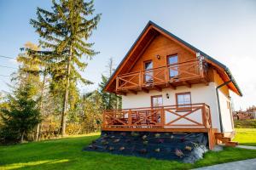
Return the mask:
[[[43,38],[39,42],[51,64],[50,73],[55,87],[65,89],[61,114],[61,134],[65,135],[70,86],[73,84],[75,87],[78,81],[91,83],[81,77],[78,69],[84,71],[87,65],[81,61],[82,56],[91,59],[97,54],[91,49],[93,43],[87,40],[96,29],[100,14],[93,15],[93,1],[60,0],[56,3],[53,0],[52,3],[52,11],[38,8],[38,20],[31,20],[31,24]]]

